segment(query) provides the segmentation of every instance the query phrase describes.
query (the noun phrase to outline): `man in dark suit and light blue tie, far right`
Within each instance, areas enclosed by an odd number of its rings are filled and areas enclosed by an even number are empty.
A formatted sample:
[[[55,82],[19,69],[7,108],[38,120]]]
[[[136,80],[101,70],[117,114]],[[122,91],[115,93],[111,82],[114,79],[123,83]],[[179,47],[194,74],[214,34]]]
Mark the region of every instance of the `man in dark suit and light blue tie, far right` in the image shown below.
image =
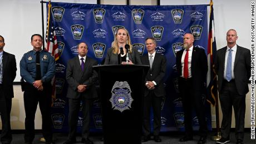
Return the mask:
[[[218,75],[218,91],[223,119],[221,139],[216,143],[229,142],[232,121],[232,105],[235,113],[235,137],[243,143],[245,95],[249,92],[250,50],[237,45],[237,31],[227,32],[227,46],[216,53],[215,70]]]

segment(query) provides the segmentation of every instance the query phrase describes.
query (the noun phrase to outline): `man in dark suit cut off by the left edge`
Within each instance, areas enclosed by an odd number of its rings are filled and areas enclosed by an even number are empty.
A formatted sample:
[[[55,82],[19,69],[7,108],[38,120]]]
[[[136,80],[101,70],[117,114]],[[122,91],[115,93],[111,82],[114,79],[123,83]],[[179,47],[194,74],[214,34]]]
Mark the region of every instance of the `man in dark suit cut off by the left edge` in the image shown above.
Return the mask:
[[[11,143],[10,113],[13,98],[13,80],[16,77],[16,60],[13,54],[3,51],[4,38],[0,35],[0,113],[2,120],[1,142]]]

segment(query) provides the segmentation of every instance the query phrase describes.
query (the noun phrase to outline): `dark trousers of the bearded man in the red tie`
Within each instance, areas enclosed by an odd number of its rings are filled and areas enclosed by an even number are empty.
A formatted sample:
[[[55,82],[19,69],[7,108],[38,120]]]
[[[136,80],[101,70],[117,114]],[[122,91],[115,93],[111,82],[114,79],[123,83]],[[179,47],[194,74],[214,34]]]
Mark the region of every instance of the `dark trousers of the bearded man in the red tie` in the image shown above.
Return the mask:
[[[194,108],[199,122],[199,135],[207,136],[207,124],[205,120],[204,102],[202,99],[202,90],[194,90],[192,79],[180,78],[180,93],[184,110],[185,135],[193,136],[192,110]]]

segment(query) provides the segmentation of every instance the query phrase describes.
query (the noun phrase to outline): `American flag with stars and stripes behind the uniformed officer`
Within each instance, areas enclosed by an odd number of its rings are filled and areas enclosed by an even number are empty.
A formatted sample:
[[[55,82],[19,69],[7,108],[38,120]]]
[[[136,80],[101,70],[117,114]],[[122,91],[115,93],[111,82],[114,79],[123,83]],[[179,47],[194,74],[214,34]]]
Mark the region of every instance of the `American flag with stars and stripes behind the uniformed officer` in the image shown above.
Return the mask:
[[[46,48],[45,50],[52,53],[55,61],[58,60],[58,43],[55,33],[55,28],[53,26],[52,13],[51,13],[51,2],[48,3],[48,16],[47,16],[47,28],[46,28]]]

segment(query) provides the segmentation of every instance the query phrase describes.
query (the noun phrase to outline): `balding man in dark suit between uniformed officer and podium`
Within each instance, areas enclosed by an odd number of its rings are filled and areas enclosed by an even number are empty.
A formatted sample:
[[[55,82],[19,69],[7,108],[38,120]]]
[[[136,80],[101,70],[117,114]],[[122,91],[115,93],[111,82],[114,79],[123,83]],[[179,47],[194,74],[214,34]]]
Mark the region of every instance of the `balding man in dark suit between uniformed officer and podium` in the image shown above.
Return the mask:
[[[87,57],[87,44],[81,42],[77,46],[78,56],[70,59],[67,63],[66,80],[68,83],[67,97],[69,103],[68,114],[68,139],[64,144],[76,143],[76,126],[77,117],[80,110],[80,102],[82,101],[82,141],[86,144],[93,142],[89,136],[89,120],[90,110],[93,98],[97,97],[95,81],[97,73],[93,71],[92,66],[97,62]]]

